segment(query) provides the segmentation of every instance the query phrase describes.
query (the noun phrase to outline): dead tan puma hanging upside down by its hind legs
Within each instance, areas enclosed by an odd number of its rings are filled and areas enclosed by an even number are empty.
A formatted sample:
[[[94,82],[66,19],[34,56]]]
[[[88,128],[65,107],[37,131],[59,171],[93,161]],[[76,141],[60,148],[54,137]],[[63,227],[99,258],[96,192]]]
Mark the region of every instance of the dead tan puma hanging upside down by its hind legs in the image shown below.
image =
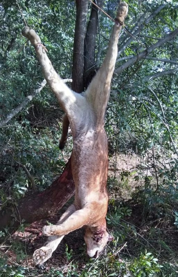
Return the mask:
[[[108,205],[106,189],[108,144],[104,130],[104,113],[117,58],[118,36],[127,12],[128,4],[121,3],[106,57],[87,90],[82,94],[75,93],[62,82],[35,31],[29,27],[25,27],[22,31],[34,45],[45,79],[66,112],[74,141],[71,166],[75,182],[75,201],[56,225],[43,227],[43,235],[49,238],[45,246],[34,252],[35,264],[41,264],[49,259],[64,235],[82,226],[86,226],[84,239],[90,257],[98,257],[107,241],[112,239],[106,231],[105,219]],[[65,144],[65,132],[64,130],[61,146]]]

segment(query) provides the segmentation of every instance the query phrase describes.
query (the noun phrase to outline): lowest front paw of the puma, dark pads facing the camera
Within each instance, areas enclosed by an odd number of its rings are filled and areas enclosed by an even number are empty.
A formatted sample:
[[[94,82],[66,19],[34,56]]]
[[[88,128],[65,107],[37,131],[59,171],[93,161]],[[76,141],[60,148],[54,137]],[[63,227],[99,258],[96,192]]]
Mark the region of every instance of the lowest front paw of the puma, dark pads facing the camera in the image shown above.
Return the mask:
[[[46,262],[51,256],[52,256],[52,249],[43,246],[39,249],[37,249],[33,254],[33,262],[35,265],[40,265],[44,262]]]

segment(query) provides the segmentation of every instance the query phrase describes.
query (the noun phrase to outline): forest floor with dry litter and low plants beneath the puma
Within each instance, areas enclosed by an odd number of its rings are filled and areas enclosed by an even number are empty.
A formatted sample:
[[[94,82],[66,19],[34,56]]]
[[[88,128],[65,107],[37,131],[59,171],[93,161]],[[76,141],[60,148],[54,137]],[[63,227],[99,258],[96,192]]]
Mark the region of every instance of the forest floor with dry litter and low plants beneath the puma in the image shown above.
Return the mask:
[[[34,266],[33,252],[46,241],[42,227],[47,222],[55,224],[67,203],[53,218],[21,226],[1,244],[0,253],[7,257],[7,264],[25,272],[9,276],[178,276],[178,228],[161,204],[162,215],[158,215],[158,206],[145,207],[138,200],[137,188],[140,191],[144,186],[144,179],[135,178],[140,165],[141,159],[136,155],[118,155],[116,162],[115,157],[110,158],[107,226],[115,240],[99,259],[87,257],[84,229],[80,229],[64,237],[43,269]]]

